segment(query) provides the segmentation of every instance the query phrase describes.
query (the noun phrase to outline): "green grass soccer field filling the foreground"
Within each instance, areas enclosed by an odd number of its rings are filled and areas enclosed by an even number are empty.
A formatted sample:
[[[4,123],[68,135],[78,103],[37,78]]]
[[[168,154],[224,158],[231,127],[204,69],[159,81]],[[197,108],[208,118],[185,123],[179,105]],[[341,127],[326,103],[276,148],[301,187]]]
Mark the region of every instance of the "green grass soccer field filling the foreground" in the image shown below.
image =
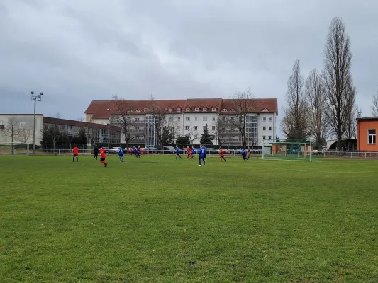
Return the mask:
[[[0,282],[378,280],[378,161],[0,161]]]

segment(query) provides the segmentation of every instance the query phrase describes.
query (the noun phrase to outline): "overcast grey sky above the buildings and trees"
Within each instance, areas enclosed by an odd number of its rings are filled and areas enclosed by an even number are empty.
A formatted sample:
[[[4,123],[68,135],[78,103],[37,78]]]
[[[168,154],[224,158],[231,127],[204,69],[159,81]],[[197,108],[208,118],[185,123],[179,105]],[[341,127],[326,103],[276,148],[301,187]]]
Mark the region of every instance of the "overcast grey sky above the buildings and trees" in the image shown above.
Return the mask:
[[[0,113],[76,120],[91,100],[278,98],[294,60],[323,68],[330,21],[350,35],[362,116],[378,90],[378,1],[2,0]],[[279,125],[277,125],[279,129]]]

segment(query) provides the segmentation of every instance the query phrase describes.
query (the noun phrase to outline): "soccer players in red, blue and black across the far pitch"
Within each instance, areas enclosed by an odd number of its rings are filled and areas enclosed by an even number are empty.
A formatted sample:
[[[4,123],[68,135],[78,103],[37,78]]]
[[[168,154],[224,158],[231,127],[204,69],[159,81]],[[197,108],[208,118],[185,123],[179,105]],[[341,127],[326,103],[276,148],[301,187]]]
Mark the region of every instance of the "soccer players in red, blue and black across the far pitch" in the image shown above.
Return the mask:
[[[181,149],[179,149],[179,147],[176,146],[175,151],[176,151],[176,160],[178,158],[180,158],[182,160],[182,157],[180,156]],[[198,159],[199,166],[201,166],[201,162],[204,163],[204,166],[205,166],[205,164],[206,164],[206,147],[203,146],[203,145],[200,145],[199,149],[197,149],[196,151],[199,155],[199,159]],[[191,149],[188,146],[187,147],[187,159],[194,158],[196,151],[194,149]],[[75,161],[75,158],[76,158],[76,162],[79,162],[79,148],[77,146],[74,146],[74,148],[72,149],[72,152],[73,152],[72,162]],[[93,152],[94,152],[93,160],[97,160],[97,158],[100,154],[100,162],[104,164],[104,167],[107,167],[108,163],[105,162],[106,152],[105,152],[104,148],[102,146],[98,147],[98,146],[95,145]],[[124,154],[124,149],[123,149],[122,146],[119,146],[118,158],[119,158],[120,162],[123,162],[123,154]],[[131,146],[130,154],[135,154],[135,158],[140,158],[140,146],[138,146],[138,147]],[[223,162],[223,161],[226,162],[226,158],[224,156],[224,151],[223,151],[223,149],[221,149],[221,147],[219,148],[219,154],[220,154],[221,162]],[[244,161],[247,161],[248,159],[250,159],[250,147],[249,146],[247,146],[247,149],[242,149],[241,156],[243,157]]]

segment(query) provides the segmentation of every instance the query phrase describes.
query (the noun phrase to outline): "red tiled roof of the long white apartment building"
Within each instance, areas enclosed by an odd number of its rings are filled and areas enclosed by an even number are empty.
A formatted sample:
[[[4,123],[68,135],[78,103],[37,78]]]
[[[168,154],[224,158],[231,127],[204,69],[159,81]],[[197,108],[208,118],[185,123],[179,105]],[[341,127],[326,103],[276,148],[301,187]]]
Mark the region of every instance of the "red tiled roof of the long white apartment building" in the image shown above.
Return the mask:
[[[144,109],[151,105],[150,100],[124,100],[128,108],[133,111],[134,115],[145,114]],[[155,100],[159,108],[165,108],[167,112],[172,109],[172,113],[179,112],[213,112],[212,108],[216,108],[214,112],[221,112],[222,114],[232,114],[230,112],[232,107],[232,99],[222,98],[198,98],[198,99],[182,99],[182,100]],[[267,112],[278,114],[277,98],[256,98],[253,99],[255,105],[255,112]],[[190,111],[186,111],[190,108]],[[199,108],[199,111],[195,111]],[[206,111],[203,111],[207,108]],[[225,111],[225,110],[226,111]],[[139,110],[139,111],[137,111]],[[223,111],[222,111],[223,110]],[[113,100],[93,100],[89,104],[85,114],[93,114],[92,119],[109,119],[111,115],[116,114],[116,105]]]

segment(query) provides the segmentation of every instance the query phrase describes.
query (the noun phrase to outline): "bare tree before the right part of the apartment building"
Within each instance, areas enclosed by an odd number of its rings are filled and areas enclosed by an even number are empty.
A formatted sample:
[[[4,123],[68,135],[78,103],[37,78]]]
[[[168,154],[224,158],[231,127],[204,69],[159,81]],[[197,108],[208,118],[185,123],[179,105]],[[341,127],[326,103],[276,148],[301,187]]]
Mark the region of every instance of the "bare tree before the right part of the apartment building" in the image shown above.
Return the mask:
[[[247,137],[245,134],[247,116],[255,110],[255,96],[252,94],[250,88],[243,92],[236,92],[231,99],[231,106],[233,112],[235,112],[235,119],[230,118],[228,122],[231,127],[238,129],[242,146],[245,148],[247,146]]]

